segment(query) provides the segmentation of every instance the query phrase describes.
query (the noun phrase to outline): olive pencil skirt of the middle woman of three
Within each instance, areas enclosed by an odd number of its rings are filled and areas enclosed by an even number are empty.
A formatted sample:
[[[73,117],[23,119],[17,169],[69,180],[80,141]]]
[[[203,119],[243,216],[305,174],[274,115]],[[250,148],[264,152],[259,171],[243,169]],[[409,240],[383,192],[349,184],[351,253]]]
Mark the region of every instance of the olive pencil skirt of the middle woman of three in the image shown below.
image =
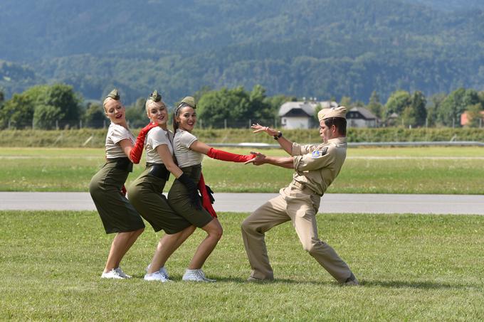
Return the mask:
[[[156,168],[166,171],[154,171]],[[162,173],[160,173],[162,172]],[[133,181],[128,189],[130,203],[152,225],[155,232],[164,230],[167,234],[175,234],[191,226],[191,223],[172,210],[167,198],[163,195],[169,172],[163,164],[150,164],[141,175]]]

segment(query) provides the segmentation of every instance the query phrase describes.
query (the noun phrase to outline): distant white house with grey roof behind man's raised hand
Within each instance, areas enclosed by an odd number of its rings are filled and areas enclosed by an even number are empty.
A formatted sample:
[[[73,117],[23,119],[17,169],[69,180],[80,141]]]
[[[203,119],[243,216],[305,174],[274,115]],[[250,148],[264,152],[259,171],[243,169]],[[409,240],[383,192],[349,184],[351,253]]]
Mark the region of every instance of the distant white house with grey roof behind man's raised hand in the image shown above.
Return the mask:
[[[317,126],[317,107],[327,109],[337,106],[337,102],[330,101],[285,102],[279,108],[280,122],[284,129],[310,129]]]

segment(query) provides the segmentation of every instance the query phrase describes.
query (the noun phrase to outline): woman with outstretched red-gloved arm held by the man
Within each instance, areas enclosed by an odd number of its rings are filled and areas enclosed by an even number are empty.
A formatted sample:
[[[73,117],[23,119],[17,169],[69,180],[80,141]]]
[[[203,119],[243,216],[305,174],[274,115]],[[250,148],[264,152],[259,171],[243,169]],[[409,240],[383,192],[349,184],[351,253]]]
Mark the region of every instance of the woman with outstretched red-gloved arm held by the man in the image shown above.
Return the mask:
[[[204,154],[214,159],[233,162],[246,162],[253,159],[253,155],[241,156],[225,151],[216,150],[199,141],[191,134],[196,123],[196,104],[193,97],[185,97],[174,110],[174,154],[178,166],[184,176],[195,183],[201,177],[201,161]],[[183,177],[180,177],[183,179]],[[184,281],[215,281],[207,279],[201,267],[216,247],[222,237],[222,226],[219,220],[201,208],[198,198],[192,198],[193,193],[189,185],[178,178],[174,181],[168,193],[168,202],[176,213],[182,215],[192,225],[206,231],[207,236],[196,249],[193,259],[183,276]],[[193,188],[192,188],[193,189]],[[196,188],[195,188],[196,189]]]

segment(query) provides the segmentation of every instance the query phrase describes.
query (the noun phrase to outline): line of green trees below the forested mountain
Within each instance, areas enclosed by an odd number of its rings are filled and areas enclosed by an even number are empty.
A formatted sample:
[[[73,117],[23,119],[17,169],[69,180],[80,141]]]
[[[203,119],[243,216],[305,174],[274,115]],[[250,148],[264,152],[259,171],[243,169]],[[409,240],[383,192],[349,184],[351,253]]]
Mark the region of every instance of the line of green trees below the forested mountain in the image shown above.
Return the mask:
[[[284,102],[298,97],[266,95],[265,88],[252,90],[242,86],[214,90],[203,87],[195,92],[196,109],[201,127],[243,128],[251,123],[278,124],[278,110]],[[181,99],[181,97],[180,97]],[[332,97],[331,100],[336,100]],[[148,119],[144,110],[145,97],[126,107],[131,127],[143,127]],[[348,108],[366,107],[386,127],[461,127],[461,114],[467,112],[468,127],[481,127],[484,91],[459,88],[449,94],[426,97],[421,91],[392,92],[385,103],[376,91],[365,104],[351,97],[341,97],[340,105]],[[175,104],[176,105],[176,104]],[[172,109],[172,107],[169,107]],[[100,101],[85,101],[74,88],[65,84],[36,85],[5,100],[0,90],[0,129],[69,129],[102,128],[108,125]]]

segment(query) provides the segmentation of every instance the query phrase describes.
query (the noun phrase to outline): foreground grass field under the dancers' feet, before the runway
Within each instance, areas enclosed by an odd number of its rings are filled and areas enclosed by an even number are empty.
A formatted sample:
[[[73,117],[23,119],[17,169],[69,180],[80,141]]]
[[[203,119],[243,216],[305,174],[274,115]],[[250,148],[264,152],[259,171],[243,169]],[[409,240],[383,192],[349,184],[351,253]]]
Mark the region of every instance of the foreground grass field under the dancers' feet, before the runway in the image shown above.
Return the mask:
[[[181,281],[204,235],[187,240],[167,269],[174,282],[142,280],[161,235],[151,228],[122,267],[134,278],[101,280],[112,235],[95,212],[0,212],[0,319],[184,321],[483,321],[484,217],[318,215],[322,240],[362,283],[339,286],[300,246],[293,227],[266,240],[276,281],[248,284],[240,224],[221,213],[224,235],[204,267],[214,284]]]

